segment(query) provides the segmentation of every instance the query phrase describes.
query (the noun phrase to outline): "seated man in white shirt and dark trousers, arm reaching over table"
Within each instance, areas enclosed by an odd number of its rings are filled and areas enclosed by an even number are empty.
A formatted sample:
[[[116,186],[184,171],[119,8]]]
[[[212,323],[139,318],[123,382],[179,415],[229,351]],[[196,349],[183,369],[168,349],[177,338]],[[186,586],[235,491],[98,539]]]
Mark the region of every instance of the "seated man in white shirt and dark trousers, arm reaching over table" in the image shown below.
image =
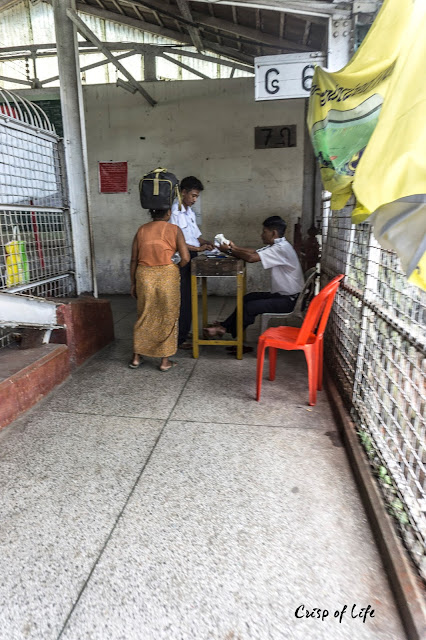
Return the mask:
[[[263,223],[262,249],[243,249],[233,242],[222,245],[221,250],[245,262],[261,262],[264,269],[271,270],[271,291],[248,293],[244,296],[243,326],[253,324],[259,313],[289,313],[293,311],[297,296],[305,283],[302,267],[291,244],[284,238],[285,221],[271,216]],[[205,327],[204,336],[215,338],[230,333],[237,335],[236,310],[214,327]]]

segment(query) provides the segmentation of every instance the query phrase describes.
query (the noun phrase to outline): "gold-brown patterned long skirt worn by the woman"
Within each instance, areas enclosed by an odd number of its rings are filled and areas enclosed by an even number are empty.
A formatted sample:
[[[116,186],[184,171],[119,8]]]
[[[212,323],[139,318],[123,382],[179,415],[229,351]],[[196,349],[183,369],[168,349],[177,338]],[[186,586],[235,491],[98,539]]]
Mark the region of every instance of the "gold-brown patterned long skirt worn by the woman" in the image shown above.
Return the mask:
[[[180,272],[175,264],[136,269],[138,319],[133,331],[134,352],[167,358],[177,351],[180,311]]]

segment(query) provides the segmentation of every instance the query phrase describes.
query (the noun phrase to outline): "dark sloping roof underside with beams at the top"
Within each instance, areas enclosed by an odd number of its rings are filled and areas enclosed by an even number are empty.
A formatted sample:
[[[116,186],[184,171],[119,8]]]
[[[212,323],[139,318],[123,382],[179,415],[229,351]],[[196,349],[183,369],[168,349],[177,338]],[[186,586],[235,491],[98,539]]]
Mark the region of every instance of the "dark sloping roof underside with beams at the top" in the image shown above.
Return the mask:
[[[276,9],[259,6],[219,4],[188,0],[189,14],[182,14],[177,0],[81,0],[79,11],[98,17],[140,25],[152,33],[195,43],[198,34],[205,50],[234,54],[235,59],[253,61],[257,55],[298,51],[319,51],[326,46],[327,19],[286,12],[286,5],[276,2]],[[272,4],[272,3],[271,3]],[[311,5],[315,4],[311,2]],[[318,6],[332,2],[318,2]],[[302,5],[300,5],[302,7]],[[281,8],[280,8],[281,7]],[[312,25],[315,28],[312,29]]]

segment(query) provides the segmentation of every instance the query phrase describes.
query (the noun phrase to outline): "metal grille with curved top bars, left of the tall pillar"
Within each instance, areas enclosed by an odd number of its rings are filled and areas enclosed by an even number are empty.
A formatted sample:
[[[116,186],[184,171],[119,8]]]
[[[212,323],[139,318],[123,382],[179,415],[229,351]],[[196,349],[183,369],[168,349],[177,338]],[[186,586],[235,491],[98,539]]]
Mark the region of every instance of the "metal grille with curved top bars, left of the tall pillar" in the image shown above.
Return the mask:
[[[0,290],[74,292],[59,138],[43,111],[0,91]]]

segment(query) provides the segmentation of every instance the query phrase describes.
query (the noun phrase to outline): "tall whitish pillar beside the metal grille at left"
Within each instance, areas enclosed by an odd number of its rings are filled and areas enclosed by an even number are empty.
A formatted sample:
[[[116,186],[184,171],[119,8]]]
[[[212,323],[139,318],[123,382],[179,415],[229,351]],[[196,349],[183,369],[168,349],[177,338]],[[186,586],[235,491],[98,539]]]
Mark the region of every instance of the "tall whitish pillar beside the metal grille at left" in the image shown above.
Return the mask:
[[[52,0],[52,6],[55,17],[77,294],[92,293],[93,265],[84,158],[84,113],[80,108],[80,66],[76,30],[66,13],[67,9],[75,9],[75,0]]]

